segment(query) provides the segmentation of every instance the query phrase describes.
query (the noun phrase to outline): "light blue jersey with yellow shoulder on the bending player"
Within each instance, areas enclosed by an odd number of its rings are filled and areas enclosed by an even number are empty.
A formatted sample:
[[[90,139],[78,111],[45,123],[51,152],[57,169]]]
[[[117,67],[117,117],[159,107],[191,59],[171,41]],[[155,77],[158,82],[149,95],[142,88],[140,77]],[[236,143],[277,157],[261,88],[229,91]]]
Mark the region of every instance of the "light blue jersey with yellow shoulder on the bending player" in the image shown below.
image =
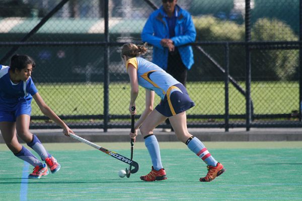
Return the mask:
[[[134,57],[127,60],[127,69],[129,63],[137,69],[138,84],[149,90],[154,90],[162,100],[165,98],[171,86],[180,83],[158,65],[141,57]]]

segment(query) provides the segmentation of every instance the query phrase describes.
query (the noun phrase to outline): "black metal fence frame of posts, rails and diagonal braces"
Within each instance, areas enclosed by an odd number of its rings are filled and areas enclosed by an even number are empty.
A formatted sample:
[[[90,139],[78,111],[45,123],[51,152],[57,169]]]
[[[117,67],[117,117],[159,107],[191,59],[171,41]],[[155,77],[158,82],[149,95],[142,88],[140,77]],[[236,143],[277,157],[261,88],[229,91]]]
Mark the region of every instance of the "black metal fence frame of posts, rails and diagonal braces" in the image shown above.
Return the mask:
[[[85,116],[60,116],[63,120],[68,119],[102,119],[102,124],[91,125],[70,125],[71,128],[102,128],[107,132],[110,128],[129,128],[129,125],[111,125],[111,119],[129,119],[128,115],[110,115],[109,114],[109,48],[120,47],[124,43],[110,42],[109,39],[109,0],[104,0],[104,20],[105,20],[105,37],[104,41],[87,41],[87,42],[26,42],[32,35],[34,35],[59,9],[63,7],[69,0],[62,0],[52,11],[49,12],[40,23],[33,28],[20,42],[0,42],[0,46],[9,46],[12,49],[0,60],[4,63],[8,60],[21,46],[103,46],[104,47],[104,115],[85,115]],[[157,9],[152,1],[144,0],[154,10]],[[302,127],[302,0],[299,0],[299,41],[265,41],[265,42],[251,42],[251,1],[246,0],[245,12],[245,41],[244,42],[202,42],[197,41],[191,45],[202,53],[212,64],[214,64],[222,73],[224,73],[224,94],[225,94],[225,113],[224,115],[188,115],[188,119],[204,119],[204,118],[220,118],[224,119],[223,123],[211,124],[190,124],[189,128],[224,128],[226,132],[229,128],[286,128],[286,127]],[[135,43],[135,41],[133,41]],[[139,43],[140,41],[138,41]],[[209,54],[207,54],[202,46],[223,46],[224,47],[224,67],[220,66]],[[229,48],[232,45],[245,46],[246,50],[246,88],[245,90],[236,82],[236,80],[229,73]],[[274,114],[274,115],[256,115],[253,113],[253,102],[251,99],[251,53],[253,50],[299,50],[299,121],[293,122],[266,122],[254,123],[253,119],[262,118],[290,118],[290,114]],[[229,84],[230,82],[235,88],[245,96],[246,99],[246,114],[245,115],[230,115],[229,114]],[[32,120],[47,120],[47,117],[32,116]],[[231,118],[245,119],[245,123],[230,124]],[[167,125],[160,125],[159,127],[165,128]],[[53,124],[39,124],[31,125],[31,128],[46,129],[46,128],[59,128]]]

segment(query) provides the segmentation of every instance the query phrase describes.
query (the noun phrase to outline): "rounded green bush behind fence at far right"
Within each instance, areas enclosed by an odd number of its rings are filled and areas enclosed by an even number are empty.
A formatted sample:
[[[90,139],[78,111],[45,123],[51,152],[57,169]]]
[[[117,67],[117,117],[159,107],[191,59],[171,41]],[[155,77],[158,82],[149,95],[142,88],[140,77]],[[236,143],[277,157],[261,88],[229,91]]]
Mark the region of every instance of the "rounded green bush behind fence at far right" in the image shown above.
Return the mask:
[[[252,29],[253,41],[297,41],[298,37],[284,22],[259,19]],[[257,50],[252,52],[253,76],[290,80],[297,71],[298,50]],[[256,69],[255,69],[256,68]]]

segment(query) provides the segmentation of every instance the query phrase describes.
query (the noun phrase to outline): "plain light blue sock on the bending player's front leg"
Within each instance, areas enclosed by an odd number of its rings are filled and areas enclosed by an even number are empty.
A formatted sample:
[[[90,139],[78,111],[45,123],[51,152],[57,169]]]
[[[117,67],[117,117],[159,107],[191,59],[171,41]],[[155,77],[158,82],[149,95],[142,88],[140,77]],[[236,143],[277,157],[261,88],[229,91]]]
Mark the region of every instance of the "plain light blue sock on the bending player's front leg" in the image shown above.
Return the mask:
[[[148,152],[150,154],[153,168],[155,170],[160,170],[163,168],[162,165],[162,159],[161,159],[161,151],[160,151],[160,145],[157,141],[157,138],[155,135],[150,135],[145,138],[145,146],[148,149]]]

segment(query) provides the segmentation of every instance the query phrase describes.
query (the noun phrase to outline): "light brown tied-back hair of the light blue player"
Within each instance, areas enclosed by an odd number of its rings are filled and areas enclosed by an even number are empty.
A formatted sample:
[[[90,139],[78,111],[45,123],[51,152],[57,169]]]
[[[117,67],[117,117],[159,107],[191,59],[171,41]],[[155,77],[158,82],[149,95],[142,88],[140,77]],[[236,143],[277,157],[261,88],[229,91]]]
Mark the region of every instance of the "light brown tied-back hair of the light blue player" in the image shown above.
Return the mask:
[[[135,45],[133,43],[126,43],[122,46],[121,57],[133,58],[144,55],[147,52],[147,43],[143,45]]]

